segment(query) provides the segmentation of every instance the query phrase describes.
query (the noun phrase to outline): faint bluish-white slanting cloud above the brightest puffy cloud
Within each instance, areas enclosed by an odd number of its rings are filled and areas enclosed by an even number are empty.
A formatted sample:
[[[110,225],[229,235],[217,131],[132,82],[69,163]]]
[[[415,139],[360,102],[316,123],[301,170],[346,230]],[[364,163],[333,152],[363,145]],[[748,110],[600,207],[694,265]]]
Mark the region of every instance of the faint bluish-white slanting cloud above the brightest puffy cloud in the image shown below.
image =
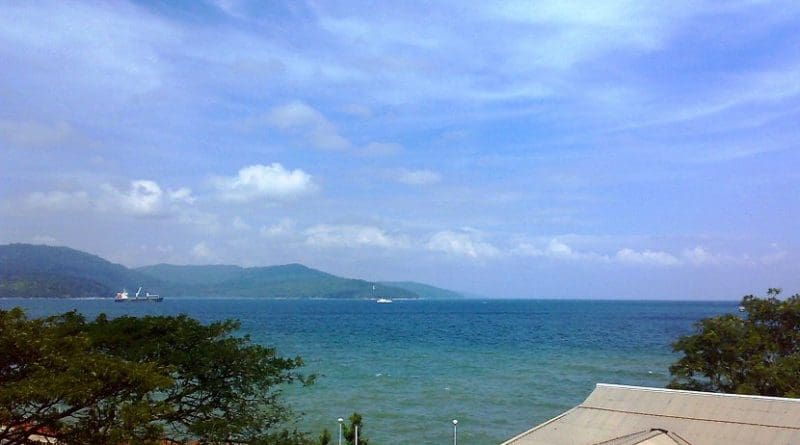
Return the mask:
[[[273,108],[267,115],[267,122],[281,130],[299,134],[314,148],[342,150],[351,146],[350,141],[342,137],[322,113],[300,101]]]

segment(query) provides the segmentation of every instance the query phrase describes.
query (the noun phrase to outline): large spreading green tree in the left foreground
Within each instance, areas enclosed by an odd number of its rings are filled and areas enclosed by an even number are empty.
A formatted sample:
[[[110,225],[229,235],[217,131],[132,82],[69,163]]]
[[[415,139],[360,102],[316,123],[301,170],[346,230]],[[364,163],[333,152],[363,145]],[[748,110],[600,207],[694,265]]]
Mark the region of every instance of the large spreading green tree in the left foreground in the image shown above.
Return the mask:
[[[281,387],[299,358],[185,315],[94,321],[0,311],[0,443],[50,431],[65,444],[308,443]]]

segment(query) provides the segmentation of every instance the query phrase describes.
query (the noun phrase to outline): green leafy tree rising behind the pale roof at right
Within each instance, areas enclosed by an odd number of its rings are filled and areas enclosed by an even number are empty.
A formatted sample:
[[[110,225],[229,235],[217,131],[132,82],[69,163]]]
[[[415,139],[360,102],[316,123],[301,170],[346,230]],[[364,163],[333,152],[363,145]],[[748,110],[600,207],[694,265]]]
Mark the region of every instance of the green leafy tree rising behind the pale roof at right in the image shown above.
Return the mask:
[[[747,295],[743,315],[706,318],[673,344],[683,356],[670,366],[669,387],[696,391],[800,397],[800,294]]]

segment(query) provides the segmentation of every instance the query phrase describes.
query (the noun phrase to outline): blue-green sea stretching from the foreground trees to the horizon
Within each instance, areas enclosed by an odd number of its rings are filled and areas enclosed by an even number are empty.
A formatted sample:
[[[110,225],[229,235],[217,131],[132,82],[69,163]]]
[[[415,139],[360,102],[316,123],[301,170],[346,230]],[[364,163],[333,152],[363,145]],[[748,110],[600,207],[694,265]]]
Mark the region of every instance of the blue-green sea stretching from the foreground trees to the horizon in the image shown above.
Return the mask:
[[[499,444],[579,404],[597,383],[664,387],[671,348],[738,303],[592,300],[0,299],[31,317],[188,314],[300,356],[316,383],[284,399],[301,430],[338,444],[358,412],[373,445]],[[458,420],[454,431],[453,420]]]

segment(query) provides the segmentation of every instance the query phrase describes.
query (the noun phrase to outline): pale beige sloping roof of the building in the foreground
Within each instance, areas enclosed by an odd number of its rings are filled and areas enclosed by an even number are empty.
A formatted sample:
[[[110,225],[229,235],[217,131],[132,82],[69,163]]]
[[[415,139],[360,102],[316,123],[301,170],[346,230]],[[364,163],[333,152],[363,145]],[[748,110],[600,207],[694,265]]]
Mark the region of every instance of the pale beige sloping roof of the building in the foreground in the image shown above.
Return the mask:
[[[580,405],[502,445],[800,444],[800,399],[599,383]]]

